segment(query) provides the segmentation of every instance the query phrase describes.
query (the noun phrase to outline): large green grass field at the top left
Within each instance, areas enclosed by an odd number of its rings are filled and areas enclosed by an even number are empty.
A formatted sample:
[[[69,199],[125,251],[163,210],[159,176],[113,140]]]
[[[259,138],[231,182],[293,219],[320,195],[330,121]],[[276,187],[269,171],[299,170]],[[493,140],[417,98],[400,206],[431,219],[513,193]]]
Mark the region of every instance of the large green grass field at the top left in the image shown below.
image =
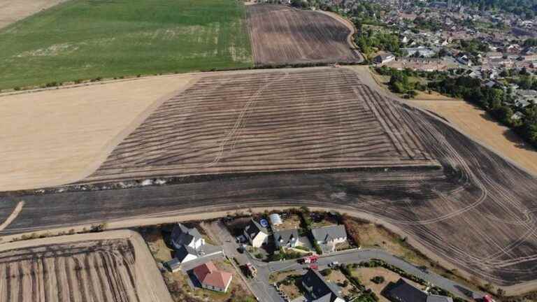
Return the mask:
[[[71,0],[0,31],[0,89],[252,65],[236,0]]]

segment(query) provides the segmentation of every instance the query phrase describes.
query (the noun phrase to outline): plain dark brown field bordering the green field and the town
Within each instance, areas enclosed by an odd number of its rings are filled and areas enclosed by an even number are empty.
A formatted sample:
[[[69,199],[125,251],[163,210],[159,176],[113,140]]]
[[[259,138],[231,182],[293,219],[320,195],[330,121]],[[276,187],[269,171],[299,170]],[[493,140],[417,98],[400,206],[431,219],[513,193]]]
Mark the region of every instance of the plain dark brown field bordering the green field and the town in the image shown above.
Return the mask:
[[[355,29],[336,17],[271,4],[247,11],[257,66],[361,61],[348,42]]]

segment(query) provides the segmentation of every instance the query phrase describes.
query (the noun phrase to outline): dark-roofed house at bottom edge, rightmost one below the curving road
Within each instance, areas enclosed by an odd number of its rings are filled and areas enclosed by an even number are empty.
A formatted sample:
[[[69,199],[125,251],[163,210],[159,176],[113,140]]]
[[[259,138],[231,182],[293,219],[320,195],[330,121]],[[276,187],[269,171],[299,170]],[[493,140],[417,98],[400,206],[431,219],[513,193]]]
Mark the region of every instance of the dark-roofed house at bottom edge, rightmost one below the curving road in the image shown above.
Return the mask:
[[[383,294],[392,302],[453,302],[451,297],[427,294],[403,279],[388,286]]]

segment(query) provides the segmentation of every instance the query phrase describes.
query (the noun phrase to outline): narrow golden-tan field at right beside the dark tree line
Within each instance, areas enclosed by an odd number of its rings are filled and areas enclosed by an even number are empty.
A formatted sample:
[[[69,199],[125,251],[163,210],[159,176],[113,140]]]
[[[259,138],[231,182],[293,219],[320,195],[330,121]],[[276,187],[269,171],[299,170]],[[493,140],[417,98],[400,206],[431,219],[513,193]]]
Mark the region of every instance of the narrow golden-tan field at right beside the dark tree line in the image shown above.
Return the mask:
[[[485,111],[466,101],[410,100],[414,106],[445,117],[455,127],[504,154],[537,175],[537,150],[522,141],[513,130],[494,122]]]

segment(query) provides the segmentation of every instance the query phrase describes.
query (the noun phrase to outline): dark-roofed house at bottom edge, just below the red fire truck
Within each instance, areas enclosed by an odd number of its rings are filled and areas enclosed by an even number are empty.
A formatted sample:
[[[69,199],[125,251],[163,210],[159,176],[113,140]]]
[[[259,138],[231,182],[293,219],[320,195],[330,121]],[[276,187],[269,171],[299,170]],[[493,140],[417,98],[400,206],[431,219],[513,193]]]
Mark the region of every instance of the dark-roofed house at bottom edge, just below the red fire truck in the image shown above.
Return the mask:
[[[345,302],[339,295],[338,285],[325,281],[319,272],[311,268],[302,276],[302,286],[313,298],[312,302]]]

